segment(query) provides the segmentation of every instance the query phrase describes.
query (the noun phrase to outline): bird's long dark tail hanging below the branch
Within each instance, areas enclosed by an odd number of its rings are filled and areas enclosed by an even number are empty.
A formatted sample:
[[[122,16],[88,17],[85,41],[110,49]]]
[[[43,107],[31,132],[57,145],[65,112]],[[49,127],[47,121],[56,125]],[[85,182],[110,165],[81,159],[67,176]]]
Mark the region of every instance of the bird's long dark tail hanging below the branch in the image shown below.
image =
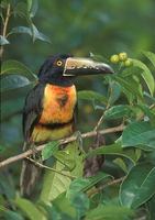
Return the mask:
[[[23,151],[26,150],[26,143],[24,143]],[[20,177],[20,191],[21,196],[30,197],[35,188],[37,179],[41,174],[41,168],[29,160],[22,162],[22,170]]]

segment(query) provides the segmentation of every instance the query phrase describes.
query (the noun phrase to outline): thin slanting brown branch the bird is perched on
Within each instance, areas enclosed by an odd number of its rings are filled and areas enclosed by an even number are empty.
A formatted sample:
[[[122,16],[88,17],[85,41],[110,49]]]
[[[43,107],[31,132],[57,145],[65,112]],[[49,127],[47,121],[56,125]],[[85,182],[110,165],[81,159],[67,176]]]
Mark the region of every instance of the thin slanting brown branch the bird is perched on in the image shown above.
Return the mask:
[[[104,130],[100,130],[100,131],[90,131],[90,132],[87,132],[87,133],[84,133],[81,134],[81,139],[87,139],[87,138],[91,138],[91,136],[96,136],[97,134],[108,134],[108,133],[114,133],[114,132],[119,132],[119,131],[123,131],[124,130],[124,125],[123,124],[120,124],[119,127],[113,127],[113,128],[109,128],[109,129],[104,129]],[[59,144],[66,144],[66,143],[69,143],[69,142],[74,142],[76,141],[76,136],[70,136],[70,138],[67,138],[65,140],[60,140],[59,141]],[[43,145],[40,145],[37,147],[35,147],[35,151],[36,152],[41,152],[44,147],[46,146],[46,144],[43,144]],[[11,163],[14,163],[16,161],[20,161],[20,160],[23,160],[30,155],[34,154],[34,151],[33,150],[29,150],[22,154],[19,154],[19,155],[15,155],[15,156],[12,156],[12,157],[9,157],[4,161],[2,161],[0,163],[0,168],[11,164]]]

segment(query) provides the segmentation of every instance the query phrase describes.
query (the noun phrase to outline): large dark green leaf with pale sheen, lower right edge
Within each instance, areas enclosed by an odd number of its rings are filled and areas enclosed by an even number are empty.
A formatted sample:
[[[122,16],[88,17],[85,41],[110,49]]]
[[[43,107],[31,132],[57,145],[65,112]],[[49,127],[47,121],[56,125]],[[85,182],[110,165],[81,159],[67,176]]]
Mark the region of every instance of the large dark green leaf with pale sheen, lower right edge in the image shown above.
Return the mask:
[[[120,188],[122,206],[136,209],[155,194],[155,167],[139,164],[129,173]]]

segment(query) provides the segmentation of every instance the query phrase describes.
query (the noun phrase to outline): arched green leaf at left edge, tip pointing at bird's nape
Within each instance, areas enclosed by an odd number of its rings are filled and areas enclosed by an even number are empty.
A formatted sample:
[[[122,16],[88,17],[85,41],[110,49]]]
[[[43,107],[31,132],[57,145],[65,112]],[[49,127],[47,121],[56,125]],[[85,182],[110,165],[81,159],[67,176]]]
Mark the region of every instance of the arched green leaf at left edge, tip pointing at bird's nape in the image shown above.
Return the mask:
[[[36,76],[22,63],[9,59],[2,63],[1,75],[22,75],[27,77],[30,80],[35,80]]]

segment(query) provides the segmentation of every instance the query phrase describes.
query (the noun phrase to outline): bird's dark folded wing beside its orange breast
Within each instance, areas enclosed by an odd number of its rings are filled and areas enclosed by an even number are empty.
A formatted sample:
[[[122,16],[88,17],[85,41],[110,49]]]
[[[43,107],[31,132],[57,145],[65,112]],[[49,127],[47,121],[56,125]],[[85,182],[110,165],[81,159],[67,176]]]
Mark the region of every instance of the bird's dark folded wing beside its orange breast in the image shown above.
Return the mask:
[[[30,138],[35,123],[40,120],[42,113],[42,101],[45,85],[36,85],[27,95],[23,109],[23,134],[26,142]]]

